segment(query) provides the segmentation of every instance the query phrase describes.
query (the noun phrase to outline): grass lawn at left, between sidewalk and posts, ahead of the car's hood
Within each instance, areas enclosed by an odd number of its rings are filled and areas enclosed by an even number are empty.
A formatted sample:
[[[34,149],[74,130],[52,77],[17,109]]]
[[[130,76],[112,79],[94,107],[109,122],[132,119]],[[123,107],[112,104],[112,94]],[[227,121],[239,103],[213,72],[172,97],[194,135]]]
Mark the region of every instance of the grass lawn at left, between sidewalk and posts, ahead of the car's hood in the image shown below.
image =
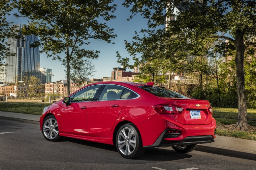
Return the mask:
[[[37,102],[0,102],[0,111],[41,115],[43,108],[51,104]]]

